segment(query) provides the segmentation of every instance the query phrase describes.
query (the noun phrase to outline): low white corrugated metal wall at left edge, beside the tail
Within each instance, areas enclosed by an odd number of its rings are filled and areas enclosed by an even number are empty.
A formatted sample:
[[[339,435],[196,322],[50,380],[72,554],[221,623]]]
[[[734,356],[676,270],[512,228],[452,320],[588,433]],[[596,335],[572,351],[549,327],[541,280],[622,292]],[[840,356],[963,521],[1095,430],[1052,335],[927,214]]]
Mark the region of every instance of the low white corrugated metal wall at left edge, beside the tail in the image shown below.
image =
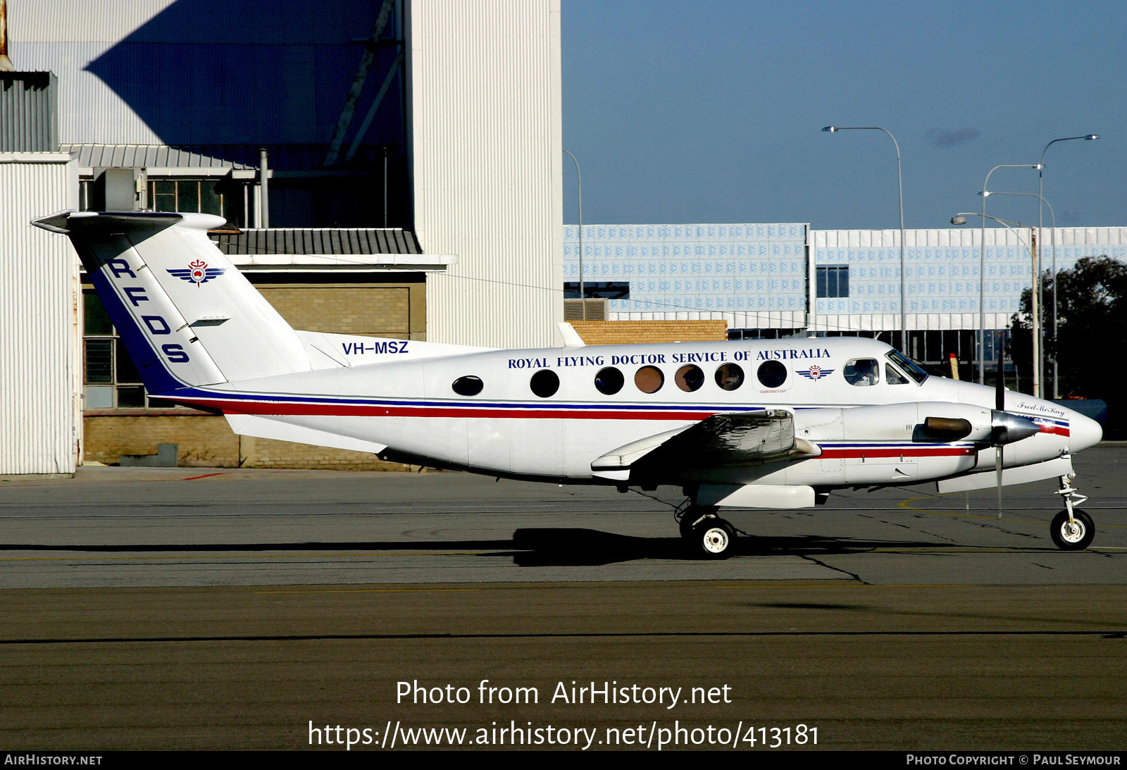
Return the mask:
[[[0,153],[0,473],[72,473],[79,440],[78,257],[34,216],[78,205],[69,154]]]

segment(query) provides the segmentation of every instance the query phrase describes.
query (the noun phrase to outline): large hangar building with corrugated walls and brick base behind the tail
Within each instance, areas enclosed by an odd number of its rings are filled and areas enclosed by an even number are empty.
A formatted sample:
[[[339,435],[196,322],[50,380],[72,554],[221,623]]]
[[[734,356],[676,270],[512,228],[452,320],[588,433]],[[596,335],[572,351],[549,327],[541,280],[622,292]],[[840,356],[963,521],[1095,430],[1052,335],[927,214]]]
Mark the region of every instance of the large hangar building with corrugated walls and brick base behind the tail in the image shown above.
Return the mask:
[[[558,0],[8,0],[0,472],[374,468],[150,399],[61,209],[205,212],[296,327],[504,347],[562,318]],[[505,275],[506,282],[492,280]]]

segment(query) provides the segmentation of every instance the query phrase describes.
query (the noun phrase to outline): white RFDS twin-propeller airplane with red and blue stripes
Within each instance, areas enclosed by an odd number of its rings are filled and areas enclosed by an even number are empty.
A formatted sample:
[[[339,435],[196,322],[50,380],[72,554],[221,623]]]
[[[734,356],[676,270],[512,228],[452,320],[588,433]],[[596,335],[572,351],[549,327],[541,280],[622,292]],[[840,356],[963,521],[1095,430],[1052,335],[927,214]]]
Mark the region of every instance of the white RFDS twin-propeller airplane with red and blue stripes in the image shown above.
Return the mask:
[[[860,337],[495,349],[294,330],[207,231],[210,214],[63,211],[68,236],[151,396],[242,435],[554,484],[683,488],[681,536],[727,558],[724,508],[809,508],[834,489],[940,493],[1057,478],[1049,528],[1095,533],[1072,455],[1093,419],[926,373]],[[1000,508],[1001,511],[1001,505]],[[731,515],[731,514],[727,514]],[[1001,513],[1000,513],[1001,515]]]

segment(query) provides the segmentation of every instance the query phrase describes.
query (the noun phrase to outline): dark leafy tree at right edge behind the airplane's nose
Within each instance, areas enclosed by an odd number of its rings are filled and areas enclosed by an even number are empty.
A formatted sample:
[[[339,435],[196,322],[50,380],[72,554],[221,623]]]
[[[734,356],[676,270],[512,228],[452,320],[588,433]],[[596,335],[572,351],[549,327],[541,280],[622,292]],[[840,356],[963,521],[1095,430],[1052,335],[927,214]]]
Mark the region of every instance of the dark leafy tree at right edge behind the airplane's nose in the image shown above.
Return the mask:
[[[1106,255],[1083,257],[1072,269],[1041,278],[1046,360],[1056,359],[1061,396],[1102,398],[1127,406],[1127,264]],[[1053,339],[1053,294],[1057,292],[1057,338]],[[1021,294],[1021,310],[1011,320],[1011,357],[1023,372],[1031,371],[1031,297]],[[1051,380],[1047,365],[1046,383]],[[1051,392],[1047,384],[1046,392]]]

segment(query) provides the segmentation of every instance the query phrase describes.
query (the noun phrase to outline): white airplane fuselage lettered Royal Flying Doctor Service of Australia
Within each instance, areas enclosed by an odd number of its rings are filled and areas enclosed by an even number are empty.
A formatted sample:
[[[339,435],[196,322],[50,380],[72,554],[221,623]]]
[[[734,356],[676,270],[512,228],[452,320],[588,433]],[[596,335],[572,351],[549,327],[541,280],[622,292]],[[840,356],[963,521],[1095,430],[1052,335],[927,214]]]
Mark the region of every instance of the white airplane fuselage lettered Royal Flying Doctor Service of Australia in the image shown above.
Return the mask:
[[[835,487],[993,468],[993,450],[984,452],[982,441],[920,441],[913,432],[928,416],[970,411],[978,422],[985,414],[988,424],[994,389],[939,377],[916,382],[888,360],[891,349],[870,339],[808,338],[488,351],[399,361],[397,353],[387,353],[379,363],[193,389],[180,400],[373,442],[389,448],[392,458],[541,480],[604,481],[592,462],[615,448],[712,414],[764,408],[791,411],[796,436],[816,443],[820,455],[721,468],[695,468],[693,458],[685,458],[684,469],[664,481]],[[851,384],[845,372],[862,360],[878,363],[875,381]],[[761,378],[767,362],[775,363]],[[743,375],[737,387],[731,365]],[[678,380],[678,371],[690,366],[696,368],[686,370],[695,379]],[[640,375],[644,368],[659,375]],[[721,368],[727,369],[718,374]],[[610,395],[596,386],[596,375],[607,369],[618,370],[623,381]],[[538,396],[532,378],[544,371],[554,373],[558,388]],[[725,375],[731,389],[721,387]],[[460,378],[477,378],[480,391],[455,392]],[[664,381],[655,390],[658,379]],[[1014,392],[1006,393],[1005,406],[1041,426],[1037,435],[1006,448],[1006,467],[1076,451],[1070,433],[1091,423]],[[860,407],[868,408],[854,411]],[[1083,430],[1091,433],[1086,424]]]

